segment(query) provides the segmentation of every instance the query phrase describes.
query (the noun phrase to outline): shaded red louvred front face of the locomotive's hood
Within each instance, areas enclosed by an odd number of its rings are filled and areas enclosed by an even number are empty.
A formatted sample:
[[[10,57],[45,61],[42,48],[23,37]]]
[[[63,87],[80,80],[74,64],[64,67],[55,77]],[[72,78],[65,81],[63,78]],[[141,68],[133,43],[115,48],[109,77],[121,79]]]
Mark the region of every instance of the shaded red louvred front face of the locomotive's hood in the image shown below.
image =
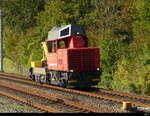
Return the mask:
[[[92,70],[96,62],[95,49],[76,49],[69,51],[69,69]]]

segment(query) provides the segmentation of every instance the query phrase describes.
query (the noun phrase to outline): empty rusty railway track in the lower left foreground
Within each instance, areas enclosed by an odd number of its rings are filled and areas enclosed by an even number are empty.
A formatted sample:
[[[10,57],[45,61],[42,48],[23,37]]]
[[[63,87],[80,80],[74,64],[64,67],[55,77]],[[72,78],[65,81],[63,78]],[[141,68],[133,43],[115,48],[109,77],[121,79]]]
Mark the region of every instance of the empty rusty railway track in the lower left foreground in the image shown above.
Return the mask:
[[[28,80],[28,79],[23,79],[23,80]],[[48,101],[47,103],[52,102],[52,103],[55,103],[57,105],[61,105],[61,107],[67,107],[67,109],[70,108],[72,110],[70,112],[74,112],[74,111],[75,112],[85,112],[85,113],[88,113],[88,112],[92,112],[92,113],[102,112],[100,110],[96,110],[96,109],[92,109],[92,108],[89,108],[89,107],[85,107],[85,106],[82,106],[81,104],[77,104],[77,103],[74,103],[72,101],[69,101],[69,100],[66,100],[66,99],[63,99],[63,98],[58,98],[58,97],[54,97],[54,96],[38,94],[36,92],[29,91],[29,90],[22,90],[22,89],[19,89],[18,86],[14,86],[14,85],[10,86],[8,84],[6,85],[5,83],[0,83],[0,88],[9,89],[9,90],[13,91],[13,93],[19,92],[19,93],[22,93],[22,94],[25,94],[25,95],[30,95],[30,97],[34,96],[34,97],[37,97],[38,99],[42,99],[42,100]],[[47,106],[45,106],[43,104],[36,103],[35,101],[31,101],[29,99],[18,97],[16,95],[12,95],[12,94],[9,94],[9,93],[8,92],[4,92],[4,91],[0,91],[1,95],[13,98],[13,99],[21,101],[21,102],[24,102],[24,103],[26,103],[26,104],[28,104],[30,106],[33,106],[35,108],[44,110],[45,112],[51,112],[51,113],[62,113],[62,112],[64,112],[64,111],[60,111],[58,109],[47,107]]]

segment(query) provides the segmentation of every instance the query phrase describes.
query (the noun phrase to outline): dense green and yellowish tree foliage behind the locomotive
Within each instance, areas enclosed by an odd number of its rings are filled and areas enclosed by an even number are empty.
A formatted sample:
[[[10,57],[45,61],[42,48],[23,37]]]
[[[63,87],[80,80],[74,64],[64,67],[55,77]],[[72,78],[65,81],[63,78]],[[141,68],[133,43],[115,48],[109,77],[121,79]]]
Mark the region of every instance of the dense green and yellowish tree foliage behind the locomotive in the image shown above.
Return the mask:
[[[149,0],[5,0],[3,8],[5,57],[13,62],[30,67],[53,26],[82,24],[88,45],[100,48],[99,86],[150,95]]]

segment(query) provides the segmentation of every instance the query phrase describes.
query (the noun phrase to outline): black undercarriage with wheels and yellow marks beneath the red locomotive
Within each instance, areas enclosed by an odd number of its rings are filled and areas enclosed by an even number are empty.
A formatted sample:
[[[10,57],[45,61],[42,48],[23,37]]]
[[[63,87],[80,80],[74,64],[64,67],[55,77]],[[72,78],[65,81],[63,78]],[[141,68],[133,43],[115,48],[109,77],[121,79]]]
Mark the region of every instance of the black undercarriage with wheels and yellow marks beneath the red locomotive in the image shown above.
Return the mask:
[[[100,71],[55,71],[45,70],[45,72],[30,69],[30,78],[39,83],[58,85],[62,87],[90,87],[100,82]]]

